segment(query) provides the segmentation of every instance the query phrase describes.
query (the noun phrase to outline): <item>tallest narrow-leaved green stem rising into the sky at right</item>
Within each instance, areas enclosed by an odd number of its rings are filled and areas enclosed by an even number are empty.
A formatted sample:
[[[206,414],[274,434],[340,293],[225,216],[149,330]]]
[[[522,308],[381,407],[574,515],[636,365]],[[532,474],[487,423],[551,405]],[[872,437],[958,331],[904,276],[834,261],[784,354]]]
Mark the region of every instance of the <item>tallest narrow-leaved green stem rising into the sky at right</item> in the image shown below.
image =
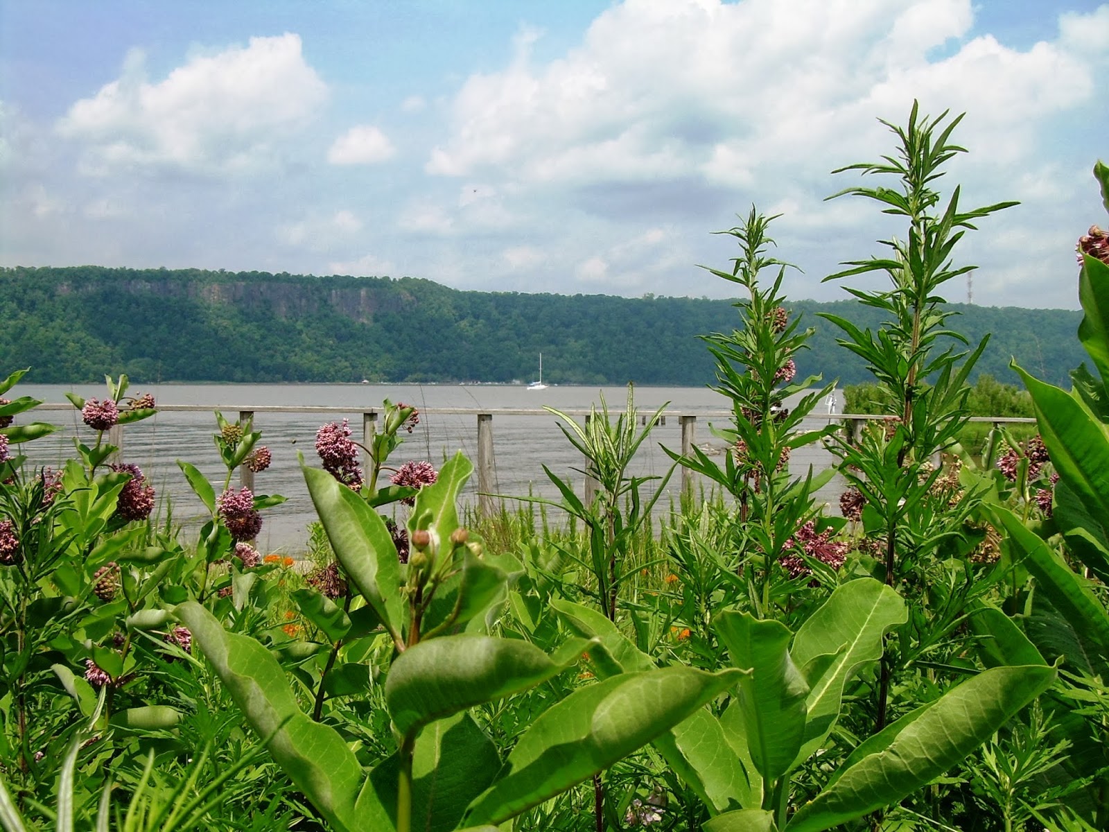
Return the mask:
[[[858,444],[841,437],[832,447],[843,461],[844,476],[867,500],[864,525],[867,534],[878,539],[882,572],[885,582],[894,587],[935,549],[935,536],[902,535],[901,527],[936,485],[940,471],[930,467],[932,459],[955,443],[955,435],[969,418],[967,376],[987,341],[970,348],[964,336],[948,329],[946,322],[953,312],[945,308],[946,302],[937,293],[948,281],[975,268],[956,266],[952,260],[955,245],[967,230],[975,229],[974,221],[1016,204],[1000,202],[960,211],[958,187],[943,202],[936,190],[944,175],[942,169],[957,153],[966,152],[950,141],[962,120],[962,115],[948,120],[947,111],[936,119],[922,116],[914,102],[907,126],[882,122],[897,136],[896,155],[835,171],[896,176],[899,190],[857,185],[828,197],[864,196],[878,202],[883,213],[908,223],[906,240],[881,241],[887,256],[848,262],[845,265],[849,268],[825,277],[832,281],[885,273],[891,288],[848,290],[861,303],[889,316],[883,328],[872,333],[841,316],[822,315],[846,333],[838,343],[866,361],[892,402],[889,426],[869,430]],[[956,352],[958,344],[968,348]],[[965,495],[962,514],[974,499],[974,495]],[[944,518],[936,521],[943,524]],[[958,534],[958,527],[952,525],[950,531]],[[925,546],[919,545],[922,540]],[[878,730],[886,724],[891,666],[887,653],[878,688]]]

